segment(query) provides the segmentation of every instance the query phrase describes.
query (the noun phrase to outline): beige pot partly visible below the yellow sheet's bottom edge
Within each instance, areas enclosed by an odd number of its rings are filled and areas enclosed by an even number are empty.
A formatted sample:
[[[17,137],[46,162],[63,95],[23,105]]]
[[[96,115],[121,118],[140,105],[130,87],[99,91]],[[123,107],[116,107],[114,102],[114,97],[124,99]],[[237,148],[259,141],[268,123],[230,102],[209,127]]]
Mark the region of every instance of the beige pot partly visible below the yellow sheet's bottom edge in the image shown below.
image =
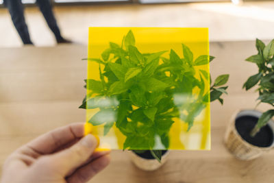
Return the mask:
[[[158,160],[155,159],[142,158],[135,154],[133,151],[128,151],[128,154],[136,167],[144,171],[153,171],[159,169],[166,162],[169,156],[169,151],[166,151],[166,153],[162,156],[161,162],[158,162]]]

